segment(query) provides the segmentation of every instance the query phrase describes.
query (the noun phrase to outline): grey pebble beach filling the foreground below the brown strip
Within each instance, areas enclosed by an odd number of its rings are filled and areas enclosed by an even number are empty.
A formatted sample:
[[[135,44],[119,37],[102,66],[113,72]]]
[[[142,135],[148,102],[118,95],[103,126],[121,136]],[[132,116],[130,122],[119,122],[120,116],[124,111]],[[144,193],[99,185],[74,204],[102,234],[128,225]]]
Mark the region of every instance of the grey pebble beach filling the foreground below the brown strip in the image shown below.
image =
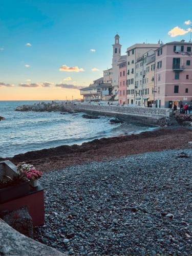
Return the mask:
[[[44,173],[46,222],[35,239],[71,255],[189,255],[191,165],[187,148]]]

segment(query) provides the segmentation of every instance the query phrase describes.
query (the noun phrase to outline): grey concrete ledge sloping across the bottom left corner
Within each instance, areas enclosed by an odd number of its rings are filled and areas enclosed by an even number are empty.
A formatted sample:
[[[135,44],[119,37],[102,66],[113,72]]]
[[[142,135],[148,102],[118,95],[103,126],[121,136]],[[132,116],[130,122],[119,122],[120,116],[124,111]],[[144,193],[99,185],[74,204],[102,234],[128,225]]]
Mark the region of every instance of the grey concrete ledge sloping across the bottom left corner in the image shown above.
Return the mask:
[[[24,236],[0,219],[0,255],[66,255]]]

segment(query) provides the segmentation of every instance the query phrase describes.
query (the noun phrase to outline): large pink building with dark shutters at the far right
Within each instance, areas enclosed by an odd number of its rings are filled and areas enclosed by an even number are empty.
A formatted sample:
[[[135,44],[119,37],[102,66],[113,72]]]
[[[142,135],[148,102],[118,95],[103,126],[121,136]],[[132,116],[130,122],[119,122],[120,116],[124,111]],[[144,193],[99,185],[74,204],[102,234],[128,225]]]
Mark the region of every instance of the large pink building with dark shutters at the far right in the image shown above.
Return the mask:
[[[168,42],[156,50],[156,107],[173,108],[176,104],[192,103],[192,43]]]

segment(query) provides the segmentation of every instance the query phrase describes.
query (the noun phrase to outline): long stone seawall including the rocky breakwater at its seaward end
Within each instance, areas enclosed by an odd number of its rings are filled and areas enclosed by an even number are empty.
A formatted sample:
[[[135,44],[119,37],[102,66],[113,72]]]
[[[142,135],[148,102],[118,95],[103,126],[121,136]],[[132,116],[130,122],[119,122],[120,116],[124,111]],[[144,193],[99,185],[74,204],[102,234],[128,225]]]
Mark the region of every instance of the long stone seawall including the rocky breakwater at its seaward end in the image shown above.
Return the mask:
[[[169,109],[142,108],[134,106],[116,106],[116,105],[89,105],[89,104],[65,104],[65,103],[41,103],[34,105],[18,106],[16,111],[81,111],[90,114],[107,115],[120,117],[124,120],[130,120],[140,123],[163,125],[168,123]]]

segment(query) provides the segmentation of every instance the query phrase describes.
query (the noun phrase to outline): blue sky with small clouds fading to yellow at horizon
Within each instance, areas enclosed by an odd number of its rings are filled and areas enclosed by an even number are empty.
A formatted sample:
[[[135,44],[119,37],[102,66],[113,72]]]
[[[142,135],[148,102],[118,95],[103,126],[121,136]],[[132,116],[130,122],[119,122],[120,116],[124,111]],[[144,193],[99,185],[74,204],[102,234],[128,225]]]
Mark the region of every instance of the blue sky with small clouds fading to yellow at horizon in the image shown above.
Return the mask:
[[[0,100],[81,98],[111,67],[117,32],[121,54],[188,41],[191,10],[192,0],[1,0]]]

